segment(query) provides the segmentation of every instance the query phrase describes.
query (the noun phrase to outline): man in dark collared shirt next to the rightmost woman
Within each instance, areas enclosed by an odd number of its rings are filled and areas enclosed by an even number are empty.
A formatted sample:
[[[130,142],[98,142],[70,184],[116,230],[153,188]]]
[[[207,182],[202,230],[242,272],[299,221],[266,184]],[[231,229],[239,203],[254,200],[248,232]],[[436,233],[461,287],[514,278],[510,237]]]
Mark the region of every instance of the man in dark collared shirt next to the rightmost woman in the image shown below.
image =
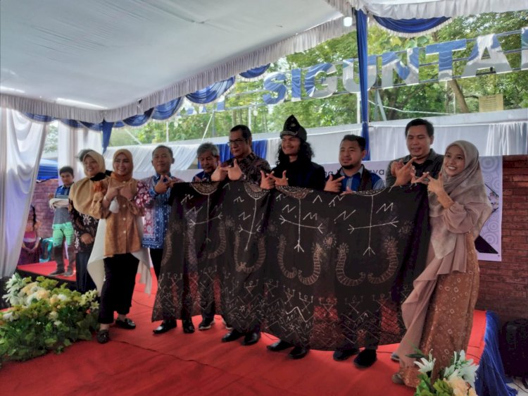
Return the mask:
[[[428,172],[433,178],[438,177],[444,156],[436,154],[431,148],[431,144],[434,142],[434,127],[432,123],[422,120],[422,118],[410,121],[406,126],[406,142],[409,155],[389,163],[385,173],[386,187],[394,185],[397,178],[399,179],[397,185],[404,185],[410,182],[409,168],[403,169],[403,166],[409,161],[413,162],[415,175],[418,177],[425,172]],[[427,181],[427,178],[424,179],[426,184]]]

